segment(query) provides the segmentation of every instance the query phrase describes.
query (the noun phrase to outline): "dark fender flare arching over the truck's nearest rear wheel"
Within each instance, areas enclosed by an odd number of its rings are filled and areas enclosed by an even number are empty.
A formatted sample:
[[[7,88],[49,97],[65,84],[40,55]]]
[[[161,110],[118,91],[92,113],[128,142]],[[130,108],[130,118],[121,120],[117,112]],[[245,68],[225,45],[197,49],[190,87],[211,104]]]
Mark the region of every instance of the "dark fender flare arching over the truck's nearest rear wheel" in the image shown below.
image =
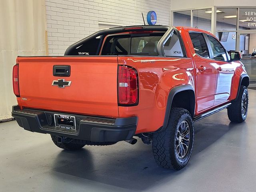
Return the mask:
[[[196,96],[195,96],[195,90],[191,85],[180,85],[180,86],[176,86],[174,88],[172,88],[169,92],[168,95],[168,99],[167,99],[167,104],[166,104],[166,112],[165,112],[165,116],[164,116],[164,124],[162,126],[162,128],[160,128],[160,130],[165,129],[168,125],[168,121],[169,121],[169,117],[170,117],[170,112],[171,112],[171,107],[172,107],[172,100],[174,98],[174,96],[182,91],[186,91],[186,90],[192,90],[194,93],[194,98],[191,98],[194,100],[194,103],[190,103],[190,108],[192,108],[192,112],[193,114],[191,114],[192,119],[194,118],[194,114],[195,114],[195,108],[196,108]]]

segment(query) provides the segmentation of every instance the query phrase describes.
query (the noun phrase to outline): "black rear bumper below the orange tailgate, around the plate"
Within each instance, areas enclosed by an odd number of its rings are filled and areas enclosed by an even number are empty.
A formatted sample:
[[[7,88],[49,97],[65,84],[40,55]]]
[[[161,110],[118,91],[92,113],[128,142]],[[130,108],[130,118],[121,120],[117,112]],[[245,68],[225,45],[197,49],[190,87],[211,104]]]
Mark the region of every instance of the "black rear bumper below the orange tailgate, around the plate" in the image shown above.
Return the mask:
[[[75,116],[77,129],[56,127],[54,123],[54,114],[56,113]],[[138,122],[138,117],[98,118],[42,110],[20,110],[18,105],[12,107],[12,116],[16,118],[19,126],[31,132],[48,133],[92,142],[130,140],[135,134]]]

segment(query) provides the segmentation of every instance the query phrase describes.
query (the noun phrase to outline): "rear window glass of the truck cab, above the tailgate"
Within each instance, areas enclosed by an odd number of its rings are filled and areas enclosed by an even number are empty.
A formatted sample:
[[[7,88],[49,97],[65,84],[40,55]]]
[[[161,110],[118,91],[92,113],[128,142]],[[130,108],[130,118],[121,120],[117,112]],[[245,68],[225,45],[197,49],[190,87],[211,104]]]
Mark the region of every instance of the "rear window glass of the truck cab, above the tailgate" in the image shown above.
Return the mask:
[[[106,38],[101,55],[157,56],[163,33],[112,35]]]

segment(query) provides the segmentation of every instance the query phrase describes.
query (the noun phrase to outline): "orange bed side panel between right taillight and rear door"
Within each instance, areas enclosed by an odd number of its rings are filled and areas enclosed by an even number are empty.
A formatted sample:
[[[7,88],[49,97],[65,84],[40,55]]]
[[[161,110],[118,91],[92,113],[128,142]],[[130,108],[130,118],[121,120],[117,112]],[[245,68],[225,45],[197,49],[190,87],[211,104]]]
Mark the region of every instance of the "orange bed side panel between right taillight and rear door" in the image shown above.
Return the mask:
[[[138,71],[138,106],[118,107],[120,117],[138,116],[136,133],[153,132],[163,126],[168,94],[174,86],[190,84],[194,88],[190,58],[119,56],[118,64]]]

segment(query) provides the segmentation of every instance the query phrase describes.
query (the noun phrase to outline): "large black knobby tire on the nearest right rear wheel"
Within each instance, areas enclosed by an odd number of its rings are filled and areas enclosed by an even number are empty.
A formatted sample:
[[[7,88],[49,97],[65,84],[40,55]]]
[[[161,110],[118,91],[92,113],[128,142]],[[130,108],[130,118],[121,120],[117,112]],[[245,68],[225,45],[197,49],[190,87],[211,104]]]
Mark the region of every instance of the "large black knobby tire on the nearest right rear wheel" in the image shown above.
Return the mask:
[[[176,137],[182,122],[189,125],[190,142],[184,158],[180,158],[176,152]],[[192,154],[194,144],[194,125],[188,110],[184,108],[172,108],[166,129],[153,134],[152,150],[156,163],[166,169],[180,170],[186,166]]]

